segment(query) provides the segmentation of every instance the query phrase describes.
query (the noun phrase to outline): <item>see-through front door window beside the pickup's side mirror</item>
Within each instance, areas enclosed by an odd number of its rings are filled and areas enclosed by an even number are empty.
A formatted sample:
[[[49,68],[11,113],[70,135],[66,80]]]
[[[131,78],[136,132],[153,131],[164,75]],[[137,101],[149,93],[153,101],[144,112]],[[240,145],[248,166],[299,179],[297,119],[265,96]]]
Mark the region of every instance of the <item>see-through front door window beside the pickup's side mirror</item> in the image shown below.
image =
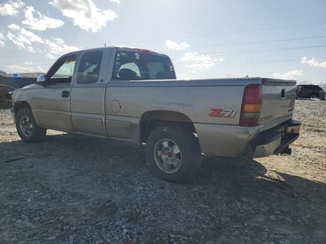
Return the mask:
[[[64,59],[58,70],[50,77],[50,83],[70,83],[75,63],[76,56]]]

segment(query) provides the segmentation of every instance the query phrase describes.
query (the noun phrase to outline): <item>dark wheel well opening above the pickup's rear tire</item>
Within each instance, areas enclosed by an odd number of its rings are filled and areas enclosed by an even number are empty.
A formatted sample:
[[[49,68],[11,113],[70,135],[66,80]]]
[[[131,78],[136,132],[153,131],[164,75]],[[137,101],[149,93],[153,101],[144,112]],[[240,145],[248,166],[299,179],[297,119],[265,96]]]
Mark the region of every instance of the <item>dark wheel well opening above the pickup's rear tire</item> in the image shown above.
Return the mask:
[[[159,126],[172,126],[196,133],[193,121],[185,114],[174,111],[156,110],[142,115],[140,122],[140,141],[146,142],[152,130]]]

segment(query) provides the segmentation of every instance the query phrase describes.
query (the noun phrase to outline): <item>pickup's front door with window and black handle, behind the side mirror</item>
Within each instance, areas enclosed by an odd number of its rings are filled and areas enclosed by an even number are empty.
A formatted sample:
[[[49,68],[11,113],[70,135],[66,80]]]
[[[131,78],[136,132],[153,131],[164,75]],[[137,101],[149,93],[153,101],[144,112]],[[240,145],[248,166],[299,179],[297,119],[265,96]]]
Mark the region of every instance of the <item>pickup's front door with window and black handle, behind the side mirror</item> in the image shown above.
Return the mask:
[[[60,58],[47,73],[47,84],[35,93],[33,114],[41,127],[74,131],[71,123],[70,94],[77,55]]]

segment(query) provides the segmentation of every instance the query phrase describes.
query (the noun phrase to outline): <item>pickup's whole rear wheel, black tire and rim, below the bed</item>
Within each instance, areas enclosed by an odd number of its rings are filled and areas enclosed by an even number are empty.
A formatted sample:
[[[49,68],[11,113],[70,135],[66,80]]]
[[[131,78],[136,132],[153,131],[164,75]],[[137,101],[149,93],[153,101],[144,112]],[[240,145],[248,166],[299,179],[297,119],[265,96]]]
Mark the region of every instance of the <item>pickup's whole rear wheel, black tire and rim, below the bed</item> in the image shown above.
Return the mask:
[[[175,127],[154,129],[146,140],[145,155],[155,176],[175,183],[193,179],[202,164],[198,139],[191,131]]]

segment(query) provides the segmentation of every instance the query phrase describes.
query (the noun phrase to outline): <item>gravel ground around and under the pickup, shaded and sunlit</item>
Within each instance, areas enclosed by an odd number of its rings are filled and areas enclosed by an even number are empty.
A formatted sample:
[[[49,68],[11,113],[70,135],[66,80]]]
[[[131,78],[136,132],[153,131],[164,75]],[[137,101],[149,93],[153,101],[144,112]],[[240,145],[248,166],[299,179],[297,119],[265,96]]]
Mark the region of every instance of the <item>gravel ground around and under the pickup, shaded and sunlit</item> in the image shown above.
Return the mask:
[[[205,158],[186,185],[143,148],[48,131],[19,139],[0,110],[0,243],[325,243],[326,102],[296,101],[291,156]]]

